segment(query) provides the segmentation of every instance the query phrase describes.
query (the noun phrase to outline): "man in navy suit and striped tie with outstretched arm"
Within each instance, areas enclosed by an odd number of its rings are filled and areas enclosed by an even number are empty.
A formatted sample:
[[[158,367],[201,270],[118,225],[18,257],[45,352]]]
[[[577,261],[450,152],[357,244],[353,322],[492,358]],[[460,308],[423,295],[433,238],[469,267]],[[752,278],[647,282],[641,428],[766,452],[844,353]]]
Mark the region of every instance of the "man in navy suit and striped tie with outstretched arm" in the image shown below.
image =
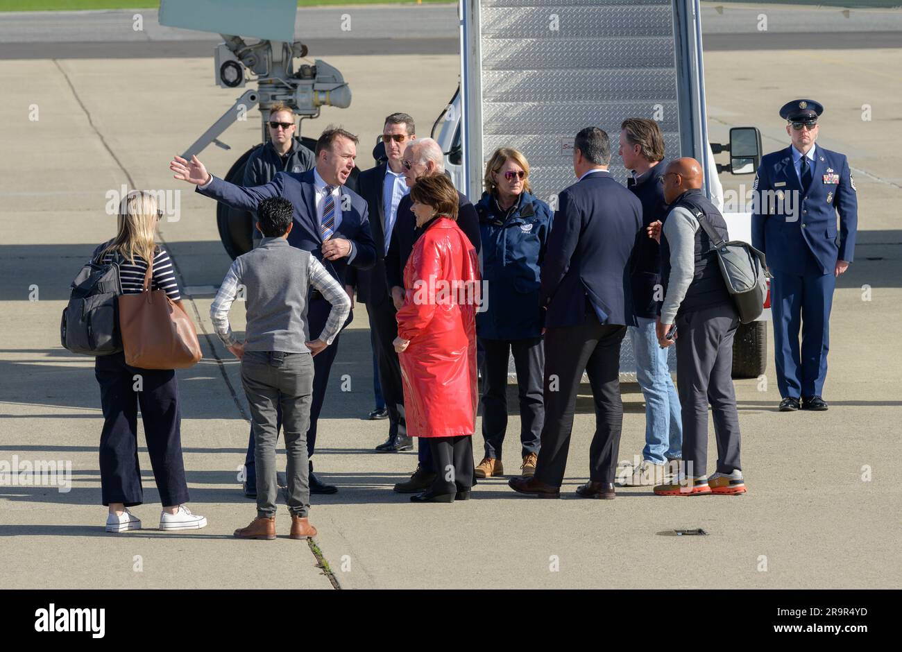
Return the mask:
[[[198,186],[197,191],[239,210],[255,211],[257,205],[269,197],[284,197],[294,206],[294,226],[289,234],[291,245],[313,253],[344,287],[347,266],[367,270],[373,267],[376,250],[366,201],[353,190],[345,188],[345,181],[354,170],[358,139],[341,128],[327,128],[317,141],[317,167],[301,173],[278,172],[269,183],[243,188],[216,179],[207,172],[197,156],[186,161],[177,156],[170,162],[175,178]],[[308,326],[310,333],[319,333],[325,326],[330,304],[315,290],[308,298]],[[345,326],[353,319],[353,312]],[[340,335],[339,335],[340,336]],[[338,337],[331,346],[320,341],[308,342],[314,355],[313,399],[310,405],[310,426],[307,433],[308,456],[312,457],[317,441],[317,420],[326,397],[329,370],[338,351]],[[335,493],[333,485],[319,481],[312,473],[310,462],[310,492]]]

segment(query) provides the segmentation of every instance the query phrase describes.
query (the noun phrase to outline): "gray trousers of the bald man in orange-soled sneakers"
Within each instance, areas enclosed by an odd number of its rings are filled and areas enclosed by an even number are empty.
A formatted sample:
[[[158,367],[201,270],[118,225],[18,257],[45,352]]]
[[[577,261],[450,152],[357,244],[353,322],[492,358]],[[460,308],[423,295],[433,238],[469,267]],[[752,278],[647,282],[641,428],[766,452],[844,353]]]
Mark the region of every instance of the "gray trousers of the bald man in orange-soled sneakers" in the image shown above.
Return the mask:
[[[683,413],[686,475],[707,474],[709,403],[717,471],[741,469],[739,414],[732,384],[732,343],[738,327],[739,315],[732,303],[676,317],[676,391]]]

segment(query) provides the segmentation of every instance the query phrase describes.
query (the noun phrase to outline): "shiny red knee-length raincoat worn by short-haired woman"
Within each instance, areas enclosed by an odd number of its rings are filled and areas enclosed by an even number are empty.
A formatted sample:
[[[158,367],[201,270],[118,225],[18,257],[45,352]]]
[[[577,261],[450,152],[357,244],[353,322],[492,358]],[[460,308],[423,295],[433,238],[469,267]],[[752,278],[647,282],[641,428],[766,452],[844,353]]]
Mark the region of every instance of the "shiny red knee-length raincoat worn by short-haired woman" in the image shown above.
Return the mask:
[[[411,436],[473,435],[476,428],[476,250],[454,220],[438,217],[404,268],[398,335],[404,412]]]

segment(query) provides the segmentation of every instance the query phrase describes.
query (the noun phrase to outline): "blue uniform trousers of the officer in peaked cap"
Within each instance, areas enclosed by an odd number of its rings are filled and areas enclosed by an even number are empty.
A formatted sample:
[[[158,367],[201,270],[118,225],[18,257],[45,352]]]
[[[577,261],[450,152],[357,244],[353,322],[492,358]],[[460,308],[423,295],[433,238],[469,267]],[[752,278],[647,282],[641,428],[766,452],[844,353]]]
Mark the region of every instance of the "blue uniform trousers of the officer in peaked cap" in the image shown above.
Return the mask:
[[[821,396],[827,377],[830,308],[836,277],[833,271],[822,274],[819,269],[800,275],[775,271],[773,275],[770,311],[780,396]]]

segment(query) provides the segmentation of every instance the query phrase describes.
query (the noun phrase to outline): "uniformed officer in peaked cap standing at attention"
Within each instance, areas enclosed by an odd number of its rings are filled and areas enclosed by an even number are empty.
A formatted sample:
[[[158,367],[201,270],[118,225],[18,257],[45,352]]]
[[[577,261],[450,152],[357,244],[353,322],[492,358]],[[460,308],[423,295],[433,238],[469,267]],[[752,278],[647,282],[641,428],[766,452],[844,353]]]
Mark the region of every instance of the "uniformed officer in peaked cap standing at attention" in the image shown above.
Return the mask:
[[[751,243],[767,255],[773,274],[770,305],[783,412],[827,409],[821,394],[833,288],[855,248],[858,198],[849,162],[815,144],[823,111],[810,99],[780,109],[792,145],[761,159],[753,186]]]

